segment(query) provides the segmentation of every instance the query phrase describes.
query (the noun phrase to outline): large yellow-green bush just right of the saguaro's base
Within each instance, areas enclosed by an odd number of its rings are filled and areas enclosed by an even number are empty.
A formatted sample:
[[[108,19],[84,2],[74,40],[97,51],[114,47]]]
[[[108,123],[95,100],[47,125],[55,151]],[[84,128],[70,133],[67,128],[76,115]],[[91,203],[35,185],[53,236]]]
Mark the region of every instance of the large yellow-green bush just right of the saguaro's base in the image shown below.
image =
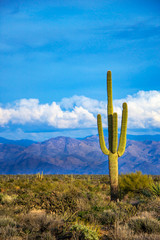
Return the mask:
[[[149,189],[152,184],[152,177],[148,175],[142,175],[140,171],[125,175],[122,174],[119,178],[119,188],[122,196],[129,192],[142,193],[144,189]]]

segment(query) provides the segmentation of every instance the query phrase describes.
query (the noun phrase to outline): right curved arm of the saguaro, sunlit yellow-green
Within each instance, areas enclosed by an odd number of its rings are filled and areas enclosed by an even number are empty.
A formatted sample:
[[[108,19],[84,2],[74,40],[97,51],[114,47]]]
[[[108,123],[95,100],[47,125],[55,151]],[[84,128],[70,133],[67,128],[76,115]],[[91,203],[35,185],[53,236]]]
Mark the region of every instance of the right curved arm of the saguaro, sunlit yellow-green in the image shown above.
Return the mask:
[[[128,118],[128,107],[127,103],[123,103],[122,112],[122,123],[121,123],[121,135],[118,147],[118,156],[121,157],[125,152],[126,147],[126,133],[127,133],[127,118]]]

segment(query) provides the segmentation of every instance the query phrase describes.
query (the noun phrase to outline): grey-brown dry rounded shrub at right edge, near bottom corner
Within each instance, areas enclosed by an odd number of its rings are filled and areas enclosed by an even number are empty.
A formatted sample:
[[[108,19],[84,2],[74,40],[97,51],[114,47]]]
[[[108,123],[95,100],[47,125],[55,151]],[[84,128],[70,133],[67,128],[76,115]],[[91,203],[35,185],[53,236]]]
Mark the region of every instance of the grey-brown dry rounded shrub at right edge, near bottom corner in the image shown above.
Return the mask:
[[[134,217],[130,219],[128,226],[134,233],[160,233],[160,222],[152,217]]]

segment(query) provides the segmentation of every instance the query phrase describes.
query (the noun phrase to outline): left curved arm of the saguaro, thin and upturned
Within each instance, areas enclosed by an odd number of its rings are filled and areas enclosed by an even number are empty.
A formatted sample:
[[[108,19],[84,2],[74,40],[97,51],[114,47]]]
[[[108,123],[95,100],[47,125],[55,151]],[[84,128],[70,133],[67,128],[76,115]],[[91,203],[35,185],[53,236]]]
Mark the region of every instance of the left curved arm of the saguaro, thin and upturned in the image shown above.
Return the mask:
[[[98,134],[99,134],[99,144],[100,144],[101,150],[104,154],[109,155],[109,150],[106,148],[106,145],[105,145],[103,128],[102,128],[102,119],[100,114],[97,115],[97,125],[98,125]]]

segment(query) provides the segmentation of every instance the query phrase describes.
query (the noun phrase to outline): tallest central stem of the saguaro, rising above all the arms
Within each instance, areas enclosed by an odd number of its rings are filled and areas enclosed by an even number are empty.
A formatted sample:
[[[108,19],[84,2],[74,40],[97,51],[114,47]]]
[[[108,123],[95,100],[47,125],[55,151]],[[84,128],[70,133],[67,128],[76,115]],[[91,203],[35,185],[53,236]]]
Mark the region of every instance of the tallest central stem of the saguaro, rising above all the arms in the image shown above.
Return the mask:
[[[111,71],[107,72],[107,99],[108,99],[108,141],[109,150],[112,151],[112,138],[113,138],[113,100],[112,100],[112,74]]]

